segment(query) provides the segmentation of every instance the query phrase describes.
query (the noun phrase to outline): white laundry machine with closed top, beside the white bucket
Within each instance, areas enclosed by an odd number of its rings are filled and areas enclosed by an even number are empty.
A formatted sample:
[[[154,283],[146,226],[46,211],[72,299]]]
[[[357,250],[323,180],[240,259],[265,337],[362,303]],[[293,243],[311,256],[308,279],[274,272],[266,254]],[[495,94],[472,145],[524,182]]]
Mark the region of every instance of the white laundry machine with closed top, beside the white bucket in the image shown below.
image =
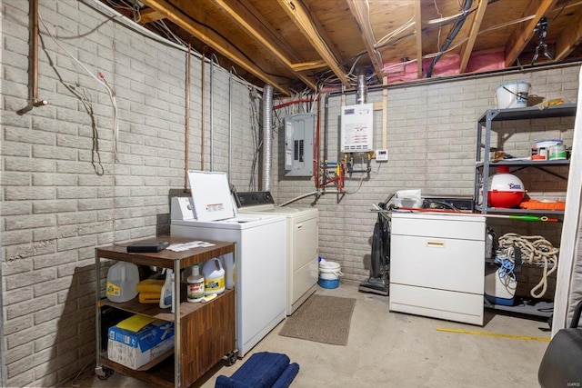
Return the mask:
[[[269,192],[236,193],[239,213],[281,214],[287,224],[286,313],[291,315],[316,292],[319,212],[315,207],[276,206]]]

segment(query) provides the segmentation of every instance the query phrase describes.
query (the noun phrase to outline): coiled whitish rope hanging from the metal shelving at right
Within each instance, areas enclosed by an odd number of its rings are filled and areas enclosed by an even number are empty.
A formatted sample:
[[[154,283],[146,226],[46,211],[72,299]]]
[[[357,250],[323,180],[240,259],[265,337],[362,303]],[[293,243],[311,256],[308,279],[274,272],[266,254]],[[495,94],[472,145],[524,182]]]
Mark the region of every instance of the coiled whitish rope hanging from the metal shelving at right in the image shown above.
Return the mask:
[[[498,240],[499,249],[507,250],[507,255],[514,259],[515,249],[517,246],[521,250],[522,263],[532,264],[543,267],[542,279],[529,292],[534,298],[541,298],[547,291],[547,277],[557,270],[557,253],[550,242],[540,235],[519,235],[504,234]],[[537,290],[541,291],[537,293]]]

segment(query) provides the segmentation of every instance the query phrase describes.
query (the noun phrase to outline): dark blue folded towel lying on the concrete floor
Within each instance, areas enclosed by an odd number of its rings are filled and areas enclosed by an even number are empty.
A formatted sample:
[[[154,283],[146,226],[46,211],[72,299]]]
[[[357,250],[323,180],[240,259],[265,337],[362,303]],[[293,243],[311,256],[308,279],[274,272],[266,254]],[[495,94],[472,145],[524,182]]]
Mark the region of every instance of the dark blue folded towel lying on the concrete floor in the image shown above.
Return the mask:
[[[218,376],[215,388],[288,387],[299,372],[299,365],[289,361],[286,354],[255,353],[232,376]]]

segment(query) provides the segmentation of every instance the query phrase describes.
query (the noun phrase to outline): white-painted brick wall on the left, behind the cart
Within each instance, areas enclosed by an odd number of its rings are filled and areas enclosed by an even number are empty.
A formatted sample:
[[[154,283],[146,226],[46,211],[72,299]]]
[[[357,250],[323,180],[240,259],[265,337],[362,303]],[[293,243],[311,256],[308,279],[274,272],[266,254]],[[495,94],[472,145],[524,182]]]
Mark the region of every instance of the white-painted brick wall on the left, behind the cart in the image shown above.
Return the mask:
[[[38,95],[49,104],[18,115],[28,98],[28,2],[1,5],[2,363],[7,386],[54,386],[95,360],[95,247],[169,232],[170,197],[183,194],[185,184],[186,52],[83,2],[40,2]],[[46,28],[115,89],[118,163],[109,95]],[[192,169],[201,167],[201,80],[201,61],[193,56]],[[206,170],[210,81],[206,64]],[[244,186],[254,156],[249,89],[233,77],[229,105],[230,75],[215,65],[212,82],[212,168],[228,168],[230,106],[232,181]]]

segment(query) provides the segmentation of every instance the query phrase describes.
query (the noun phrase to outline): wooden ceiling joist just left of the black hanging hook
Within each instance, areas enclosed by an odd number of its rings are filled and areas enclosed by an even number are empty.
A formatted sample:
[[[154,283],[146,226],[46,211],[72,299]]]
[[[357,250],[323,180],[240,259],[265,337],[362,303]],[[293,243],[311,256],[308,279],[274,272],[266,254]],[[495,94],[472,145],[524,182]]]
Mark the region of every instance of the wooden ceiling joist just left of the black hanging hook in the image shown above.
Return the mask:
[[[556,5],[557,0],[538,0],[532,1],[524,16],[535,15],[533,19],[529,19],[521,29],[519,29],[515,34],[511,35],[507,40],[506,45],[506,67],[510,67],[516,62],[517,57],[526,48],[527,44],[531,41],[534,36],[534,28],[536,28],[537,22],[549,11],[552,10],[554,5]]]

